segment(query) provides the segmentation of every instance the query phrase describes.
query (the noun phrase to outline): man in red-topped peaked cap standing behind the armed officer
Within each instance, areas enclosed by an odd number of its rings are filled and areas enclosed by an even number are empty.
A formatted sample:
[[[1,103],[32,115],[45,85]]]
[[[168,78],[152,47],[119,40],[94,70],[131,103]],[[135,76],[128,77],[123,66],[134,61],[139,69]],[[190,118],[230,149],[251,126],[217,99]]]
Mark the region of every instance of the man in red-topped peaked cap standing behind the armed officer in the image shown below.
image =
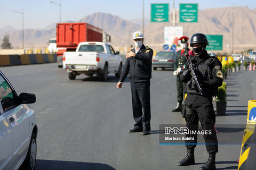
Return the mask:
[[[176,79],[176,86],[177,86],[177,107],[175,107],[172,112],[180,112],[180,106],[183,101],[183,89],[184,89],[184,83],[180,81],[179,78],[179,72],[181,70],[181,67],[186,63],[185,54],[189,52],[188,48],[188,37],[182,36],[179,38],[181,43],[181,49],[177,52],[174,64],[173,64],[173,75],[177,75]]]

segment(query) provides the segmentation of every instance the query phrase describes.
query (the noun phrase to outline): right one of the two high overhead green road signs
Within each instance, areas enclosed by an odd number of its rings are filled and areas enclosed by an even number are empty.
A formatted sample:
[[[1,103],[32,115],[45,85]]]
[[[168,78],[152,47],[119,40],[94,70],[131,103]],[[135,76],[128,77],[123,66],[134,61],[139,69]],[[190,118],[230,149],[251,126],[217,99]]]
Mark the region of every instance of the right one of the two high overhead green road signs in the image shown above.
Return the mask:
[[[180,22],[198,22],[198,4],[180,4]]]

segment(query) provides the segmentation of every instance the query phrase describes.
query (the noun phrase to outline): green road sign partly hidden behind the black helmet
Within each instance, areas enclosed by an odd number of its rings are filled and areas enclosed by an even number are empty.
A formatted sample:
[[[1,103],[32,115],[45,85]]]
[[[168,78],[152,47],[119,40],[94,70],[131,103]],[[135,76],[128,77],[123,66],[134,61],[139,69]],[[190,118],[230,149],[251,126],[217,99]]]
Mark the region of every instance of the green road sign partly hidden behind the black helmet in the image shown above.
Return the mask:
[[[209,46],[206,46],[206,50],[222,50],[222,42],[223,36],[222,35],[205,35]]]

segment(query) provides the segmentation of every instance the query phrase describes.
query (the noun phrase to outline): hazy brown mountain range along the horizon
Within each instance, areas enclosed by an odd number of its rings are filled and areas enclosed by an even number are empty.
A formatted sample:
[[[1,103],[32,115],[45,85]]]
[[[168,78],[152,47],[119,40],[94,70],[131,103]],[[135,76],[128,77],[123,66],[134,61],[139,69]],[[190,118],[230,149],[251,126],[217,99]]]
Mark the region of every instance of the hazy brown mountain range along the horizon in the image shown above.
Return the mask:
[[[233,39],[233,13],[234,13],[234,51],[256,48],[256,10],[247,7],[222,7],[198,10],[198,22],[176,23],[183,27],[183,35],[191,37],[201,32],[207,35],[223,35],[223,50],[231,51]],[[108,13],[93,13],[78,21],[87,22],[105,30],[111,36],[111,45],[114,47],[131,46],[132,33],[142,31],[142,19],[127,21],[119,16]],[[42,29],[25,29],[25,48],[44,48],[47,40],[55,37],[55,23]],[[161,50],[164,44],[164,27],[172,26],[167,22],[149,22],[145,19],[145,44],[155,50]],[[14,48],[22,44],[22,30],[12,27],[0,28],[0,39],[5,33],[10,35],[10,42]]]

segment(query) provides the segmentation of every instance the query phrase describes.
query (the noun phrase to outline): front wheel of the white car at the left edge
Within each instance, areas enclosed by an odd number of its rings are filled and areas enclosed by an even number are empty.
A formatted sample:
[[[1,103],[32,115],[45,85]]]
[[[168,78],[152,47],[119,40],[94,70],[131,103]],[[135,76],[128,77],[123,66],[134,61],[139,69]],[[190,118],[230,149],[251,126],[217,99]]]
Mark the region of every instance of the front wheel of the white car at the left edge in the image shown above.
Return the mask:
[[[33,132],[29,143],[26,159],[21,165],[21,169],[34,170],[36,167],[36,135]]]

